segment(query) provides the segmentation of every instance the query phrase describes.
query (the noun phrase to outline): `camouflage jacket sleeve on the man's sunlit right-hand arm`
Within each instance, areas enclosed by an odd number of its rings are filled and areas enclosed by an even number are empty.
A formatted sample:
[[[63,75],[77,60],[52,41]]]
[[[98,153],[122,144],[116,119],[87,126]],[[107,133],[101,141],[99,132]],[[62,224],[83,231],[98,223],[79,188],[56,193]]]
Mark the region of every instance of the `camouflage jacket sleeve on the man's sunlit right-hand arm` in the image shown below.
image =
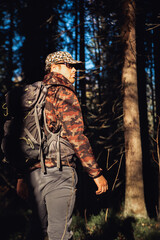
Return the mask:
[[[99,168],[95,161],[89,140],[83,133],[84,123],[80,104],[72,90],[65,87],[59,89],[56,112],[62,125],[62,137],[71,143],[89,176],[92,178],[100,176],[102,169]]]

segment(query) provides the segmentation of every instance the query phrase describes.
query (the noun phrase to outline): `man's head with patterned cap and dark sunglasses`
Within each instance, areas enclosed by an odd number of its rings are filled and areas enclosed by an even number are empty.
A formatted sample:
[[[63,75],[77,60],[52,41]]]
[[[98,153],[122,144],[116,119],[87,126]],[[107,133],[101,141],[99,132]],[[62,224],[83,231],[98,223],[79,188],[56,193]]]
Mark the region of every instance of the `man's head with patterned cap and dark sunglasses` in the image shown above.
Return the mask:
[[[50,53],[45,61],[45,70],[47,72],[57,72],[66,77],[71,83],[75,81],[77,65],[81,61],[74,60],[70,53],[58,51]]]

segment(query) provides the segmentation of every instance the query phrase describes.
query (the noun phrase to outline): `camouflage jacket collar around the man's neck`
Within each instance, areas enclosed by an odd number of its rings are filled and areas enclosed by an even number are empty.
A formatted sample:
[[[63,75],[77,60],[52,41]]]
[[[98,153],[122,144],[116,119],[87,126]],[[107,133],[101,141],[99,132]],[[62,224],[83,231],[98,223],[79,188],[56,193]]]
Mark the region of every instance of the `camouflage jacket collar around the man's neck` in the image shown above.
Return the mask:
[[[57,85],[57,86],[65,86],[75,92],[75,88],[72,85],[72,83],[70,83],[70,81],[60,73],[51,72],[51,73],[45,75],[43,82],[46,85],[53,84],[53,85]]]

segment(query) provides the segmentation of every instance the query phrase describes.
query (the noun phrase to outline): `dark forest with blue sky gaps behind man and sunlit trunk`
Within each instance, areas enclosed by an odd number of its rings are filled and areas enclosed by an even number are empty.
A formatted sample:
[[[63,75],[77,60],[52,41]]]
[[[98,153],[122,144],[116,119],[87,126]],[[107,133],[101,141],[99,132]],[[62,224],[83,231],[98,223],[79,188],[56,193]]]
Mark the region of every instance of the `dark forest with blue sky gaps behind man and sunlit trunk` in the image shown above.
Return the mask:
[[[124,13],[127,11],[125,3],[128,2],[131,4],[136,2],[139,98],[137,117],[140,117],[145,205],[149,219],[158,221],[159,3],[155,0],[1,0],[0,2],[1,137],[5,121],[3,109],[5,93],[19,85],[42,80],[45,74],[45,58],[49,53],[58,50],[68,51],[75,59],[85,62],[82,69],[77,72],[75,88],[82,107],[85,133],[109,183],[109,191],[97,197],[93,181],[83,172],[81,165],[77,164],[79,183],[74,214],[77,218],[84,219],[85,223],[92,215],[101,216],[102,210],[105,213],[105,222],[108,212],[110,216],[123,213],[126,172],[122,85],[125,46],[122,27]],[[10,166],[3,163],[2,159],[1,152],[0,222],[6,236],[3,239],[25,239],[25,234],[22,237],[21,232],[26,231],[31,210],[27,202],[17,197],[15,173]],[[13,224],[15,221],[18,223]],[[8,233],[6,233],[6,224],[9,226]],[[19,235],[14,235],[16,232],[20,232]],[[134,239],[118,238],[118,236],[120,235],[117,235],[117,238],[106,239]],[[87,238],[82,234],[75,239]]]

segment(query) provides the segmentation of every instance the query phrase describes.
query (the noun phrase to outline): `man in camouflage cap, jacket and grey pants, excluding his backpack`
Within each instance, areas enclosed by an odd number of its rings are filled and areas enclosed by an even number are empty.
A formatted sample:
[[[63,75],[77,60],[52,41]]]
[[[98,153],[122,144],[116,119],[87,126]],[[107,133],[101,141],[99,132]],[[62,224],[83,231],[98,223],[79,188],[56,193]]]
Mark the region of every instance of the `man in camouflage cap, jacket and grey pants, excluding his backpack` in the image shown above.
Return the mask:
[[[69,226],[77,184],[74,153],[97,185],[96,194],[106,192],[108,184],[95,161],[88,138],[83,134],[81,108],[72,85],[75,82],[75,67],[81,62],[74,60],[68,52],[58,51],[49,54],[45,63],[48,74],[43,82],[53,85],[46,97],[47,128],[52,132],[60,129],[61,137],[69,142],[70,148],[64,152],[61,149],[64,156],[61,159],[61,169],[57,168],[54,156],[47,156],[47,174],[41,172],[40,164],[37,163],[29,174],[29,182],[43,232],[47,231],[49,240],[68,240],[72,237]],[[23,179],[18,180],[17,193],[25,198],[27,192],[22,187],[23,183]]]

